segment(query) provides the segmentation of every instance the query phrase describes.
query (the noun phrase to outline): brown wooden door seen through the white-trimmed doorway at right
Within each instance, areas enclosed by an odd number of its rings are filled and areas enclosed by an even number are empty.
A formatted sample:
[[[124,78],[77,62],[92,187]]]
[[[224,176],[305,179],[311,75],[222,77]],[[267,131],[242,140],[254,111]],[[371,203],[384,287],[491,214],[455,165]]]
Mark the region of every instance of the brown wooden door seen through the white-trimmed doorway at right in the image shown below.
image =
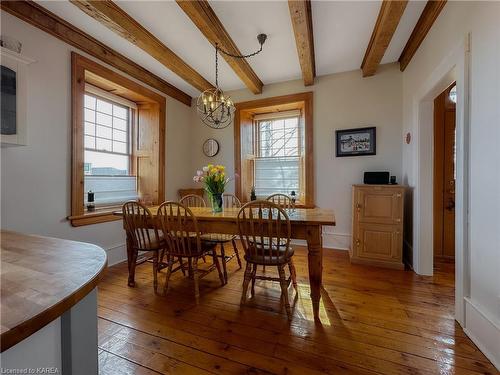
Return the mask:
[[[455,256],[455,84],[434,100],[434,256]]]

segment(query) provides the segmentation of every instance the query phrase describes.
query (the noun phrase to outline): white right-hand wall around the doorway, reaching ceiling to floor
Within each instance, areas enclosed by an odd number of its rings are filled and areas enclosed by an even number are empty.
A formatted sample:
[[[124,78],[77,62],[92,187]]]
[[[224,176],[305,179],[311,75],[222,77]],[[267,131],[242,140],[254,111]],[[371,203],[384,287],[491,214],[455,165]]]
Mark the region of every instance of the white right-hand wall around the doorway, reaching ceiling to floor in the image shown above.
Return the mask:
[[[500,367],[499,2],[448,2],[444,7],[403,74],[404,132],[418,131],[416,93],[450,60],[450,51],[464,49],[468,33],[471,36],[470,262],[465,273],[468,285],[464,287],[464,323],[467,334]],[[464,54],[457,59],[457,67]],[[412,144],[403,148],[403,175],[412,186],[418,185],[419,176],[415,168],[415,147]],[[420,219],[432,220],[430,217]],[[428,235],[432,238],[432,233]]]

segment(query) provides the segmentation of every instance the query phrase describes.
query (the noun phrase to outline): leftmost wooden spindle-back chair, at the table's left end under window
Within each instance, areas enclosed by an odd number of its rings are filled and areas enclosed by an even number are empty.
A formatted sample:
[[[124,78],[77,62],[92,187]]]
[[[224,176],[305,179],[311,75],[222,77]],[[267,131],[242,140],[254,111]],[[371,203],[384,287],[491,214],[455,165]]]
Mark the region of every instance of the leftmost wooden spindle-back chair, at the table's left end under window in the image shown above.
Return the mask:
[[[153,287],[158,288],[158,268],[160,259],[165,250],[165,239],[160,236],[158,229],[152,225],[153,215],[141,203],[130,201],[122,206],[123,223],[127,238],[131,242],[132,257],[129,262],[129,274],[135,273],[137,256],[140,251],[153,252]],[[170,265],[171,267],[171,265]]]

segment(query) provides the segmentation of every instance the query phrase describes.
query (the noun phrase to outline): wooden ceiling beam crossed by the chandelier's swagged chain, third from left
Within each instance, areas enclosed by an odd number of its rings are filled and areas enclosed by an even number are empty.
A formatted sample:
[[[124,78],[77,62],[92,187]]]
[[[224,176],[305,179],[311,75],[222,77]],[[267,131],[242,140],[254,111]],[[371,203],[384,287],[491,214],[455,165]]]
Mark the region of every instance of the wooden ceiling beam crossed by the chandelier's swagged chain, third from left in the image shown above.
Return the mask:
[[[226,31],[219,18],[217,18],[207,0],[177,0],[177,4],[179,4],[184,13],[186,13],[191,21],[200,29],[210,43],[214,46],[218,43],[219,47],[223,50],[233,55],[241,55],[236,43],[231,39],[231,36]],[[250,91],[254,94],[260,94],[262,92],[263,83],[250,67],[246,59],[235,59],[225,54],[222,54],[222,57],[224,57],[224,60],[233,68],[234,72],[240,77]]]

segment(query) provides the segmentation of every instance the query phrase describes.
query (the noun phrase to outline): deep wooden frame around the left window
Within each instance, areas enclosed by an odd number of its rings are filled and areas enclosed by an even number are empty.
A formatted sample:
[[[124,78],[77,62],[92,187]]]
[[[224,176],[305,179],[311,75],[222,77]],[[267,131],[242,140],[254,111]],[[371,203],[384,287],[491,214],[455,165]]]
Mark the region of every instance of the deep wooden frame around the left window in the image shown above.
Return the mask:
[[[72,116],[72,159],[71,159],[71,215],[68,219],[72,226],[104,223],[120,220],[113,215],[121,206],[97,208],[93,212],[87,212],[84,206],[84,110],[83,100],[85,95],[85,83],[112,92],[127,100],[135,102],[142,108],[150,108],[157,117],[157,121],[151,120],[150,126],[155,128],[156,137],[151,141],[150,155],[154,164],[157,164],[157,174],[152,176],[156,182],[151,187],[154,191],[153,203],[158,204],[165,195],[165,114],[166,99],[154,91],[128,79],[124,76],[100,65],[99,63],[83,57],[75,52],[71,53],[71,116]],[[132,111],[138,112],[138,111]],[[132,115],[132,148],[134,162],[131,164],[133,172],[138,171],[137,159],[141,157],[138,150],[138,114]],[[144,121],[146,121],[145,119]],[[153,165],[154,165],[153,164]],[[139,172],[138,172],[139,174]],[[140,176],[138,176],[140,177]],[[139,192],[140,193],[140,192]]]

